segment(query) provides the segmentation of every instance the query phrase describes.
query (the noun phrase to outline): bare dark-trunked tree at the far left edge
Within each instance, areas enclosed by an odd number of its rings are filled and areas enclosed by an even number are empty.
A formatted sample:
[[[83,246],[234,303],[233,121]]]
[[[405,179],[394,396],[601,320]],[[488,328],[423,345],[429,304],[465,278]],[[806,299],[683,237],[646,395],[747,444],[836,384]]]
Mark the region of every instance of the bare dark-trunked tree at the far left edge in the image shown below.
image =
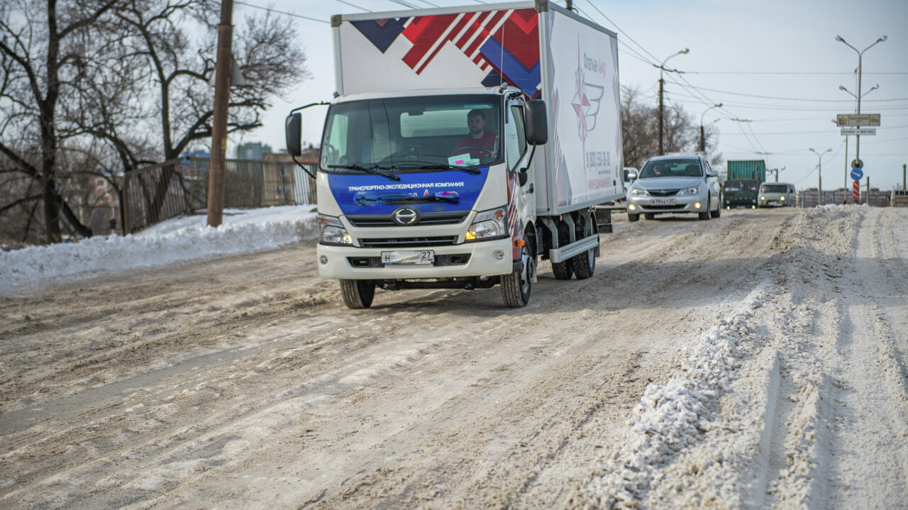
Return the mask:
[[[61,97],[82,72],[86,30],[118,1],[19,0],[0,7],[0,152],[15,172],[40,185],[48,242],[61,240],[61,216],[79,234],[92,235],[60,190],[62,142],[77,133],[60,125],[57,114]]]

